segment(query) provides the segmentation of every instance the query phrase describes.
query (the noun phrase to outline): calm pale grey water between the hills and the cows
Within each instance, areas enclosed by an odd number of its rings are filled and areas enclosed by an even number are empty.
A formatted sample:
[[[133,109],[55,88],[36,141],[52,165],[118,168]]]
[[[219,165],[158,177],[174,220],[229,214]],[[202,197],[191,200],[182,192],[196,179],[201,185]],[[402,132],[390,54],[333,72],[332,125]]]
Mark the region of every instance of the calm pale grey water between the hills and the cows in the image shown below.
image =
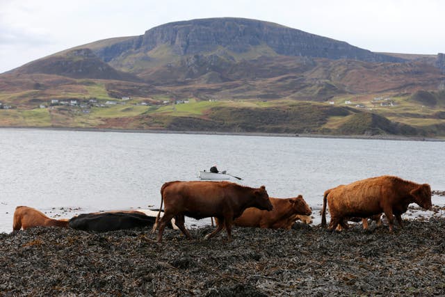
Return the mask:
[[[197,180],[213,164],[313,209],[327,188],[378,175],[445,190],[442,142],[0,129],[0,147],[0,232],[12,231],[17,205],[65,218],[159,207],[164,182]]]

